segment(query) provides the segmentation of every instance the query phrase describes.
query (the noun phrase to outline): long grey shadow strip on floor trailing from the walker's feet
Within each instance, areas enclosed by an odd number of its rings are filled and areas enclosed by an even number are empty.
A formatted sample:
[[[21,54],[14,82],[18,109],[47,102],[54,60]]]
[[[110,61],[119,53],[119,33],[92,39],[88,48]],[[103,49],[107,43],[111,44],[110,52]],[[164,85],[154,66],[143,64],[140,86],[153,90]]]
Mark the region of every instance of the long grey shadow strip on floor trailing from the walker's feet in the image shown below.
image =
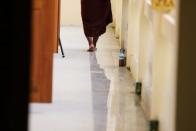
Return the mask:
[[[107,98],[110,80],[107,79],[104,70],[97,63],[95,53],[89,54],[89,60],[93,95],[94,131],[106,131]]]

